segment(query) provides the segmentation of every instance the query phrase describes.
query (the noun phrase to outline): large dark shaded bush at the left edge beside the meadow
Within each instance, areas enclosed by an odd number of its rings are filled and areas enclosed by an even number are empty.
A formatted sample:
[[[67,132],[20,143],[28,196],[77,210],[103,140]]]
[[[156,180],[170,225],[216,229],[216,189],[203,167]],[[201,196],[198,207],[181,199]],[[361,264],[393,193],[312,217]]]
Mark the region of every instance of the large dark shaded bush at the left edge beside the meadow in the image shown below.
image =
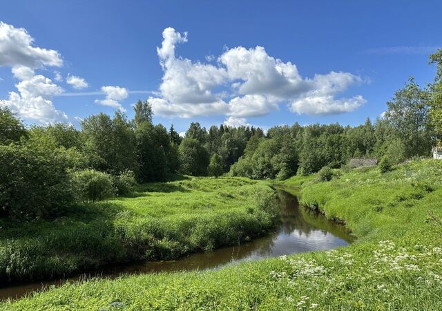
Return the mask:
[[[59,153],[26,145],[0,146],[0,214],[48,216],[73,202],[66,164]]]

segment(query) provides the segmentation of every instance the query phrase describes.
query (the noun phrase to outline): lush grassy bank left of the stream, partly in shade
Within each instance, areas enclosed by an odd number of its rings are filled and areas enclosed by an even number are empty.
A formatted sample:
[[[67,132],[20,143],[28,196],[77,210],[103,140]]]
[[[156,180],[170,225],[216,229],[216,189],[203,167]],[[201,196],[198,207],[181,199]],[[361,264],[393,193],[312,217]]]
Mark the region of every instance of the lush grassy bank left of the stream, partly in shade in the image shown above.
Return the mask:
[[[273,225],[274,195],[264,182],[191,178],[146,184],[139,191],[72,208],[53,221],[0,220],[0,282],[177,258],[239,243]]]

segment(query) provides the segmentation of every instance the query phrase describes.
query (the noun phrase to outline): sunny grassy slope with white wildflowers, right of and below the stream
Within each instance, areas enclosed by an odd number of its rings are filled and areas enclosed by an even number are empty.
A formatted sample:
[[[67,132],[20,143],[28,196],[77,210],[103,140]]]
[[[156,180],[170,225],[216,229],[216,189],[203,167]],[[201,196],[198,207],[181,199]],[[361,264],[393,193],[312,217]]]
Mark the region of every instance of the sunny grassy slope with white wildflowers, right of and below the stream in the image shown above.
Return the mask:
[[[442,161],[302,180],[302,202],[359,241],[215,272],[66,284],[4,310],[442,310]],[[300,178],[287,180],[300,185]],[[429,212],[430,211],[430,212]],[[115,302],[117,301],[117,302]],[[114,302],[114,303],[113,303]]]

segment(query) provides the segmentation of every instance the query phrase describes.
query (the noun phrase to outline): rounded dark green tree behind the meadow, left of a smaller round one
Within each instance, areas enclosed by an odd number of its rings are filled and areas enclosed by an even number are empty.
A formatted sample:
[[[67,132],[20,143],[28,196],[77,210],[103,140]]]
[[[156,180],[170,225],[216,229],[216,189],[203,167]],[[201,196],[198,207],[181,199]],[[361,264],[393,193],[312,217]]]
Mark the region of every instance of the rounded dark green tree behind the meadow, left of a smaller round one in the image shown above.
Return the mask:
[[[184,138],[178,151],[182,173],[193,176],[207,175],[207,167],[210,162],[209,152],[201,142],[194,138]]]

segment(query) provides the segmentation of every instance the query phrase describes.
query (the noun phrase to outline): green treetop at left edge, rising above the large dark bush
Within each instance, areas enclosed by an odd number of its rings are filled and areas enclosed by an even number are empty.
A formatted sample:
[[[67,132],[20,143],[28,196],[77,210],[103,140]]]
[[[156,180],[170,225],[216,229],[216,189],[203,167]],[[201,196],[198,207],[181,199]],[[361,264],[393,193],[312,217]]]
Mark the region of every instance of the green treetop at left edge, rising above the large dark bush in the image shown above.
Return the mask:
[[[0,105],[0,144],[18,142],[21,137],[26,137],[25,127],[7,107]]]

